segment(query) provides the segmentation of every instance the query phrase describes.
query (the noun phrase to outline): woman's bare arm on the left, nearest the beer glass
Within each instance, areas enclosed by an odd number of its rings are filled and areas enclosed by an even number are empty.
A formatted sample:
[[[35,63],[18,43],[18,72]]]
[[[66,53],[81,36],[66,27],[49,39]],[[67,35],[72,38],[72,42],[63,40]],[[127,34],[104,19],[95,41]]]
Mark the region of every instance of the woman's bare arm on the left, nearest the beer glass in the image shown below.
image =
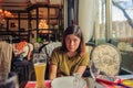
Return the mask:
[[[57,77],[57,65],[50,64],[49,67],[49,79],[54,79]]]

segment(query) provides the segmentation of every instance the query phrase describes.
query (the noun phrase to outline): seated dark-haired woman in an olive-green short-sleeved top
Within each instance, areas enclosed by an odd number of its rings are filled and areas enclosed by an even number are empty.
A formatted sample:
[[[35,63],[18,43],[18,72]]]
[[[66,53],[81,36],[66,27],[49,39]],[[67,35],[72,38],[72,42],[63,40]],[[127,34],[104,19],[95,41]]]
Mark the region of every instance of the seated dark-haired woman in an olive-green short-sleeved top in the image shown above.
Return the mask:
[[[50,59],[49,79],[61,76],[83,75],[89,64],[89,53],[81,29],[69,26],[63,34],[62,46],[53,50]]]

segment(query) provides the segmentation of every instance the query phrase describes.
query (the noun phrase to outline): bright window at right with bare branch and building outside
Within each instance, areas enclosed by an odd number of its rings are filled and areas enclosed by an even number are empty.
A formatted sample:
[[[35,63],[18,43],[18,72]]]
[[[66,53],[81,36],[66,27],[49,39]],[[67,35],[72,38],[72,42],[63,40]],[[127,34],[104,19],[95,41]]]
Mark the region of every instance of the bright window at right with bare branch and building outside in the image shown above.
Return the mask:
[[[133,0],[112,0],[110,4],[100,0],[99,3],[100,29],[95,29],[96,43],[115,45],[122,54],[122,67],[133,72]],[[105,6],[111,6],[111,16],[108,16],[109,7]],[[111,20],[110,24],[106,20]]]

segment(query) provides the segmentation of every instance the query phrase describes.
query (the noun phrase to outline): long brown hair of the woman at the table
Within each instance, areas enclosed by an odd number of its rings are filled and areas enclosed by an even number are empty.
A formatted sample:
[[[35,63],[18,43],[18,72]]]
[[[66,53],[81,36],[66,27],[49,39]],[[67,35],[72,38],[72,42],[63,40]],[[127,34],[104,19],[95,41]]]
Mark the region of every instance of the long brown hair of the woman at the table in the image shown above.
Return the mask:
[[[66,28],[66,30],[63,33],[61,50],[63,52],[68,52],[66,44],[65,44],[65,37],[70,34],[74,34],[75,36],[78,36],[81,40],[76,52],[80,55],[83,55],[85,53],[85,42],[84,42],[83,33],[79,25],[71,25],[71,26]]]

